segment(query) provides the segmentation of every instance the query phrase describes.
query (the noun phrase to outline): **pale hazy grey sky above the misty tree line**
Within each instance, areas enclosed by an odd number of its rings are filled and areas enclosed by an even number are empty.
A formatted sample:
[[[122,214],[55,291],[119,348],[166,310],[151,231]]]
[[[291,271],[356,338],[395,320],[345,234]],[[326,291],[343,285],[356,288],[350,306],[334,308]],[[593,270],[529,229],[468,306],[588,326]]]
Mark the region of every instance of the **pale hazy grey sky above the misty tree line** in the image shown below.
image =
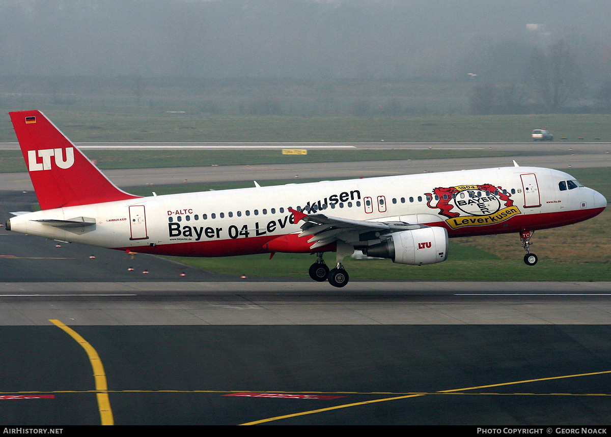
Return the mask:
[[[2,0],[0,74],[495,81],[564,38],[598,80],[609,23],[609,0]]]

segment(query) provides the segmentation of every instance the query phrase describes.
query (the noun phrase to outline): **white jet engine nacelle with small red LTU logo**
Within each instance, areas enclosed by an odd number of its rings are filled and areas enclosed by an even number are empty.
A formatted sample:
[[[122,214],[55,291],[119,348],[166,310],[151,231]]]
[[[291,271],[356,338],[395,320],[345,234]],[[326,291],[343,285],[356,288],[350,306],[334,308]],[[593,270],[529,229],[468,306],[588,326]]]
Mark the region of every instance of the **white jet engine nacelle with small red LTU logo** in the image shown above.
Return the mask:
[[[363,250],[367,256],[390,258],[398,264],[435,264],[448,258],[448,231],[437,226],[401,231]]]

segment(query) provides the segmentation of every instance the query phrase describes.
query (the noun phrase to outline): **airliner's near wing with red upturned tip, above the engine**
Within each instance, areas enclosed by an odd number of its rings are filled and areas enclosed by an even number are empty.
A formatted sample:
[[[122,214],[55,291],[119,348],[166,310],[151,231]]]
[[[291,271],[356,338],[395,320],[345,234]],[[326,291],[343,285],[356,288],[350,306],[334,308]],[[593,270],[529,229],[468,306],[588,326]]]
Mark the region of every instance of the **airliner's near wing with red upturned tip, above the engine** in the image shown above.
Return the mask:
[[[296,223],[303,222],[299,237],[312,236],[308,240],[312,243],[310,249],[323,247],[337,240],[356,245],[368,240],[379,240],[381,236],[393,232],[429,227],[404,222],[365,222],[325,214],[304,214],[292,208],[289,211],[295,215]]]

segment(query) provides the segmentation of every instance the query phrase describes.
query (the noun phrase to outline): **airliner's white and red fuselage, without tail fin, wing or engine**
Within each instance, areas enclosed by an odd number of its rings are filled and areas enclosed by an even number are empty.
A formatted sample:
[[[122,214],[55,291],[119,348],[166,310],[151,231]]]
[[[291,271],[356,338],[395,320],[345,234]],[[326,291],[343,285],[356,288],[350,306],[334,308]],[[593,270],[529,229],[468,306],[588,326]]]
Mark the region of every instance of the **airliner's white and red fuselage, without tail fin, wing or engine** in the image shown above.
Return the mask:
[[[572,179],[546,168],[505,167],[287,184],[47,209],[13,217],[9,226],[20,233],[123,250],[246,255],[270,251],[267,242],[300,230],[288,208],[342,219],[443,226],[450,237],[552,228],[601,212],[606,200],[595,190],[560,189],[560,182]],[[37,221],[82,217],[95,224],[65,227]]]

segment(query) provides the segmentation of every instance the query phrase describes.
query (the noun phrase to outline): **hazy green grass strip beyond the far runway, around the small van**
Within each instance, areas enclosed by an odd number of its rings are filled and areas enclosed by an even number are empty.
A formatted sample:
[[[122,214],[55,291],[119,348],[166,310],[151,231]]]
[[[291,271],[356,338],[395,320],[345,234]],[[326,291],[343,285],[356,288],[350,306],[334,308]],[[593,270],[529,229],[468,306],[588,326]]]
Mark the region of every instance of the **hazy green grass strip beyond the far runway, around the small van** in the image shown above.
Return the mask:
[[[532,129],[556,140],[611,141],[611,115],[452,115],[423,117],[206,117],[189,114],[45,114],[75,142],[497,142],[530,141]],[[8,117],[0,142],[15,141]]]

